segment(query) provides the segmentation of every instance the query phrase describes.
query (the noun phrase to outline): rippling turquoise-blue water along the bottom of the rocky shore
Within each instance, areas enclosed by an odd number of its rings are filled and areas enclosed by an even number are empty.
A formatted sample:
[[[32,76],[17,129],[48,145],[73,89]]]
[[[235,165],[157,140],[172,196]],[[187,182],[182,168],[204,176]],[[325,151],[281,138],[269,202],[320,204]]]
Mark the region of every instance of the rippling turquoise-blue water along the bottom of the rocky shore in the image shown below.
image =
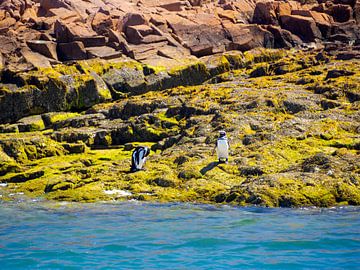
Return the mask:
[[[0,269],[360,269],[360,208],[0,203]]]

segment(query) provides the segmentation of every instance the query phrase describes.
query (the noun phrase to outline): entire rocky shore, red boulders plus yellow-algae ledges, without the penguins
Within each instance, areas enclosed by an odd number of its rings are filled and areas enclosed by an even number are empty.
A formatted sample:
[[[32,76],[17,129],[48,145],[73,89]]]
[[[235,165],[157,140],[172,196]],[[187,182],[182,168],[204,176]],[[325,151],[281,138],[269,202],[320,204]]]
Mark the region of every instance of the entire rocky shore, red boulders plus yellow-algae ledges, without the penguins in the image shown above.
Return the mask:
[[[360,205],[359,1],[0,4],[0,200]],[[229,164],[211,151],[231,139]],[[137,145],[146,171],[129,173]]]

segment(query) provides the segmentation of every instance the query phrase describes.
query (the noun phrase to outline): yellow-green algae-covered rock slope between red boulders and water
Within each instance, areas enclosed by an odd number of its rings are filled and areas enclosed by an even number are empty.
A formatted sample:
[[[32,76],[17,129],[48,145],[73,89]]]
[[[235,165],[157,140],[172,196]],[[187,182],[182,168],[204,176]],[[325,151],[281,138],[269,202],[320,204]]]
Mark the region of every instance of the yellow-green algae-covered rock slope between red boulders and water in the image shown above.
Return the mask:
[[[198,86],[1,126],[1,199],[359,205],[359,63],[304,51],[246,63]],[[221,129],[229,164],[211,154]],[[153,151],[129,173],[139,144]]]

